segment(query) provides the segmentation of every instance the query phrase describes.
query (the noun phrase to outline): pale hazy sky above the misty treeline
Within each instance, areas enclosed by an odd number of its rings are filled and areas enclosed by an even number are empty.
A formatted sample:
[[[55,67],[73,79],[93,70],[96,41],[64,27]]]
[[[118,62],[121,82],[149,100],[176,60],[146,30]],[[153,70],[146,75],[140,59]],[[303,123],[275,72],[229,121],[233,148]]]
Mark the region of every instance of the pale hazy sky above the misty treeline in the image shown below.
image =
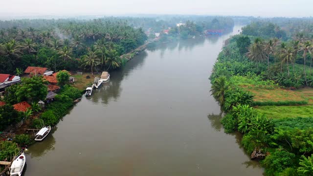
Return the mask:
[[[1,0],[1,16],[196,14],[313,16],[313,0]]]

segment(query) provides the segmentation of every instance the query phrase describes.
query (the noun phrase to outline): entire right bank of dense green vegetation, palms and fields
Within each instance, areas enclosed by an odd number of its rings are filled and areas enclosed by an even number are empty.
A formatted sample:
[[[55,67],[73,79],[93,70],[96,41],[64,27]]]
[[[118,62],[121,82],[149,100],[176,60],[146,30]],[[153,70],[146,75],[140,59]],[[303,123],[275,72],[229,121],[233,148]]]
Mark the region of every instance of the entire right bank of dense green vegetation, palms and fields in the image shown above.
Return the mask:
[[[225,132],[244,134],[243,147],[262,158],[265,175],[312,176],[313,22],[271,21],[252,22],[226,41],[211,92],[226,113]]]

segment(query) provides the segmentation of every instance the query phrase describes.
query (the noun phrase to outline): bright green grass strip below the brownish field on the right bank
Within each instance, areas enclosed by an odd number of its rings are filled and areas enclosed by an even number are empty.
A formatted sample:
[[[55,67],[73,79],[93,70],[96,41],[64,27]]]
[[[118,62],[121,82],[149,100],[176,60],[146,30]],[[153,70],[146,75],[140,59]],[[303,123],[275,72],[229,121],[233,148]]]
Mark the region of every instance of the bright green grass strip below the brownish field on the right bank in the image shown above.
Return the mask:
[[[256,110],[270,118],[313,117],[313,106],[263,106]]]

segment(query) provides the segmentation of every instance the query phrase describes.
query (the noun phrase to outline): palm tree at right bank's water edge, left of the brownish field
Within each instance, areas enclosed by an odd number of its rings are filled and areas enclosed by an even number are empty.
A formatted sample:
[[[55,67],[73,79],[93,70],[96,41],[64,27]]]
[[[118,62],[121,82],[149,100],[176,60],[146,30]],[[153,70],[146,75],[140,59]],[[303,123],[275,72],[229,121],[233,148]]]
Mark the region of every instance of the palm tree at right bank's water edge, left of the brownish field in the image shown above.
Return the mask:
[[[216,78],[211,86],[211,92],[213,97],[220,103],[220,106],[223,107],[225,103],[225,92],[229,88],[229,83],[225,76],[220,76]]]

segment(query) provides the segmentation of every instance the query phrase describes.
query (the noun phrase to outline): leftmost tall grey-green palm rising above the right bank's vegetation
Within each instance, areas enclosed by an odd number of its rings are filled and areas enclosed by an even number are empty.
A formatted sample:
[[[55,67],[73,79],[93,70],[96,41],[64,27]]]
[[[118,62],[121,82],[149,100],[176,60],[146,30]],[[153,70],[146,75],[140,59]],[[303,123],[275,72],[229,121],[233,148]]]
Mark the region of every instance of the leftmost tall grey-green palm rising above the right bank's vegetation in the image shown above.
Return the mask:
[[[257,67],[258,67],[258,63],[264,61],[264,59],[266,58],[265,53],[264,53],[264,49],[263,49],[263,42],[261,38],[256,38],[254,40],[254,43],[250,45],[250,47],[248,48],[248,52],[246,53],[246,56],[257,63]]]

